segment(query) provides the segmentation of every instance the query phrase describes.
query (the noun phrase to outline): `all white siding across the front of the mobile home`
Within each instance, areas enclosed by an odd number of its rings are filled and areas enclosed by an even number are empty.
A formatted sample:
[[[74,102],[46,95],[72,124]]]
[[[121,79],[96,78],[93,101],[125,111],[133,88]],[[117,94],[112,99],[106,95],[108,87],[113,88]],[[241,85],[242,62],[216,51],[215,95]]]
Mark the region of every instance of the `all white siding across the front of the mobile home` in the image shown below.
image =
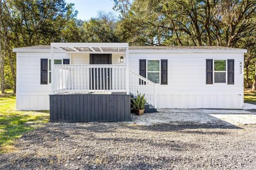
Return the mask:
[[[17,109],[47,110],[51,84],[40,84],[41,58],[50,59],[49,52],[17,52]],[[122,54],[112,55],[112,64],[121,64]],[[69,58],[55,53],[55,59]],[[89,64],[89,54],[73,54],[71,64]],[[131,50],[129,67],[139,74],[139,60],[168,60],[168,84],[157,85],[157,108],[242,108],[243,74],[239,61],[243,53],[153,53]],[[206,84],[206,59],[234,59],[235,84]],[[125,62],[124,56],[124,62]],[[125,64],[125,63],[124,63]],[[125,80],[125,79],[124,79]]]

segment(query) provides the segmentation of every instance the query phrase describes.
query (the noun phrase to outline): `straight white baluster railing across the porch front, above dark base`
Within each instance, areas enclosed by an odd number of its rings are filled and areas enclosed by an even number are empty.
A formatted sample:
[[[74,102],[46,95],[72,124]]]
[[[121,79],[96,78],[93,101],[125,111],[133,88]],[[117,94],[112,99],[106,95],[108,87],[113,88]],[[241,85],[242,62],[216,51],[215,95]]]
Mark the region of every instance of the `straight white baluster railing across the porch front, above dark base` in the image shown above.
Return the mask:
[[[54,93],[126,92],[126,65],[54,65]]]

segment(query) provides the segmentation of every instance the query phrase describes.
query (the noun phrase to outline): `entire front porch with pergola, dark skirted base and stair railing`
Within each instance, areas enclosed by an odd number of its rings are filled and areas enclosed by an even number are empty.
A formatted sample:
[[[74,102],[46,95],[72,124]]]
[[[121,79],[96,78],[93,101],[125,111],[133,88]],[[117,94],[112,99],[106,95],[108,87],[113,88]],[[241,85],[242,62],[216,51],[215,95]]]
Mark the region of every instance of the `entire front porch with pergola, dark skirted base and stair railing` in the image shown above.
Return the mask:
[[[51,122],[130,121],[138,92],[156,106],[155,84],[129,70],[127,43],[51,43],[51,61]]]

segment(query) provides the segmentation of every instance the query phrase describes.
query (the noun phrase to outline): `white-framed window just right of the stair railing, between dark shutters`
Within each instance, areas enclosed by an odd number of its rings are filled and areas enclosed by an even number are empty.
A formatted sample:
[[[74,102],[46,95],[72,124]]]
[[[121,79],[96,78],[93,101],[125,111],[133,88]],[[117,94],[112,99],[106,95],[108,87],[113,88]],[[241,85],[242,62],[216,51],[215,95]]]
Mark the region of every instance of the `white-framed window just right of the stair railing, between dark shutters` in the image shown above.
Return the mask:
[[[159,84],[160,78],[160,60],[147,60],[147,79]]]

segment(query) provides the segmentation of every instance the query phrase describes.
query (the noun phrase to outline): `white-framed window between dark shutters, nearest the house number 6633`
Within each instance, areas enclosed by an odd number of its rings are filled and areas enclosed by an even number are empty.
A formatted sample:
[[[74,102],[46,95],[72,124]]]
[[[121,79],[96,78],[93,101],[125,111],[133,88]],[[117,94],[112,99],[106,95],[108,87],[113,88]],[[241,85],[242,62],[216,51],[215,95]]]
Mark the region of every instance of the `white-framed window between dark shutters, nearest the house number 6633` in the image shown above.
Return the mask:
[[[227,83],[227,60],[213,60],[213,82]]]

